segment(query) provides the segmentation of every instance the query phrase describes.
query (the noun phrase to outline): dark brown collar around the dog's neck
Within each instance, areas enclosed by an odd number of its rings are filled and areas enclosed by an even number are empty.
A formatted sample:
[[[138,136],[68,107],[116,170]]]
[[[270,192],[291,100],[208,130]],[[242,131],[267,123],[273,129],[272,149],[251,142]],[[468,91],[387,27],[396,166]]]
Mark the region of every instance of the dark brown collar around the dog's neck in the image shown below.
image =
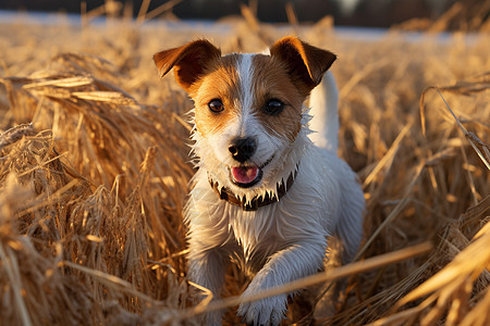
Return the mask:
[[[284,197],[284,195],[286,195],[287,190],[290,190],[290,188],[294,184],[294,179],[296,178],[296,175],[297,175],[297,168],[298,168],[298,166],[296,166],[296,170],[290,174],[290,176],[287,177],[287,180],[285,183],[281,183],[281,185],[278,184],[275,186],[275,188],[277,188],[275,196],[271,197],[268,192],[265,196],[254,197],[250,200],[250,202],[247,202],[246,197],[244,197],[243,200],[241,200],[233,192],[231,192],[229,189],[226,189],[224,187],[221,188],[221,190],[220,190],[218,188],[219,184],[215,183],[211,179],[211,177],[209,177],[209,184],[211,185],[211,188],[218,193],[220,199],[225,200],[229,203],[232,203],[236,206],[241,206],[244,211],[257,211],[258,208],[278,202],[282,197]]]

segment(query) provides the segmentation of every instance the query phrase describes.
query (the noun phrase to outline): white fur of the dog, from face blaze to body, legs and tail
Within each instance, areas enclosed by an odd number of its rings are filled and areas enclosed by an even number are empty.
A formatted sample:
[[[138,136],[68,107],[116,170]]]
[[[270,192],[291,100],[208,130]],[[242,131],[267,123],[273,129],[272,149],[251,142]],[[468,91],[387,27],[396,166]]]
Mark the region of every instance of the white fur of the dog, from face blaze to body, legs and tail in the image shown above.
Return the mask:
[[[329,149],[324,150],[308,138],[307,110],[303,128],[292,145],[261,128],[248,110],[254,96],[253,68],[252,55],[243,55],[237,67],[243,87],[243,97],[237,103],[242,105],[241,115],[219,135],[206,138],[197,130],[193,135],[194,150],[200,161],[185,209],[189,227],[188,277],[217,298],[230,258],[253,276],[243,293],[248,296],[319,271],[328,236],[340,236],[345,244],[346,261],[353,258],[362,239],[364,196],[355,173],[334,152],[339,122],[336,93],[331,93],[336,92],[333,78],[328,75],[328,85],[319,87],[323,91],[321,96],[330,99],[323,101],[329,106],[320,108],[328,123],[319,127],[322,129],[317,134],[324,140],[319,145]],[[319,103],[315,100],[318,97],[313,96],[313,99],[314,105]],[[257,152],[252,158],[257,165],[275,153],[264,170],[265,177],[258,187],[236,187],[229,181],[224,170],[219,168],[221,164],[237,165],[228,152],[229,141],[236,136],[258,139]],[[294,185],[279,202],[252,212],[220,200],[208,180],[211,177],[220,188],[226,187],[238,197],[250,199],[256,195],[274,193],[275,185],[284,183],[296,168]],[[286,310],[287,294],[282,294],[243,303],[238,314],[247,324],[278,325]],[[209,313],[204,318],[206,325],[221,325],[221,313]]]

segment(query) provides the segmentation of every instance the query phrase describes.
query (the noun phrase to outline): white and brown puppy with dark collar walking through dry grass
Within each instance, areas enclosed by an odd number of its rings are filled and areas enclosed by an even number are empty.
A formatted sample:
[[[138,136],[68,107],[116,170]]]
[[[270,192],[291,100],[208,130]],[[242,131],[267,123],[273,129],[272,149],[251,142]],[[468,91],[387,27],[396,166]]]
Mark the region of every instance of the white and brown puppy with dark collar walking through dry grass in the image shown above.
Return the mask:
[[[160,76],[173,68],[195,104],[188,278],[213,298],[230,261],[252,278],[246,297],[317,273],[329,236],[343,242],[344,262],[357,252],[364,195],[336,155],[338,95],[328,72],[335,59],[296,37],[269,54],[222,55],[199,39],[154,55]],[[310,99],[322,129],[311,134],[304,103],[322,79]],[[243,302],[237,314],[249,325],[278,325],[292,294]],[[220,325],[221,315],[207,313],[203,323]]]

